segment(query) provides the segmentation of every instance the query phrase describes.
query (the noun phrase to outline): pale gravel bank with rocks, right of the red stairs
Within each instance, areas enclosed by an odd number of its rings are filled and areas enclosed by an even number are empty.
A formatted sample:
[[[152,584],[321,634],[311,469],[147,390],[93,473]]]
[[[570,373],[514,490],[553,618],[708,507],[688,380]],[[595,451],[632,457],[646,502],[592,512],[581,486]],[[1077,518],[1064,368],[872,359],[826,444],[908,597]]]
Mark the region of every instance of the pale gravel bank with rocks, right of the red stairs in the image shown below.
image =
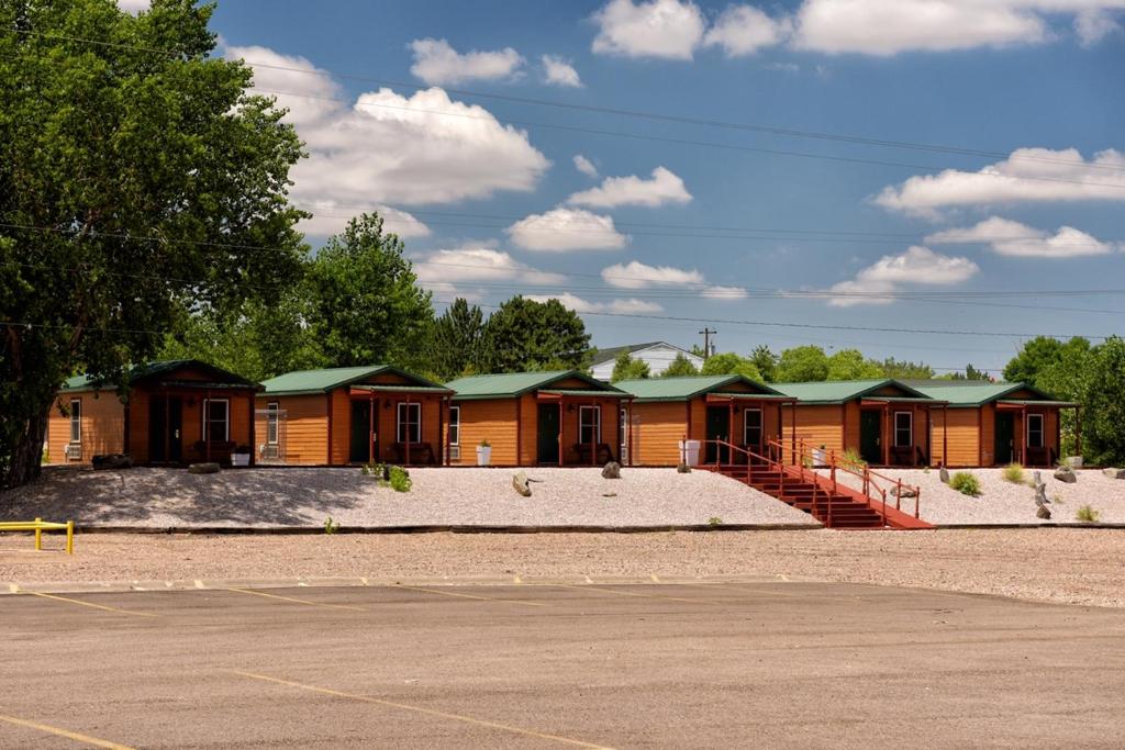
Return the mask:
[[[1051,519],[1035,516],[1035,490],[1004,478],[1004,469],[951,469],[969,471],[980,481],[980,497],[969,497],[942,484],[937,469],[880,469],[891,479],[921,488],[919,513],[934,524],[1058,524],[1077,523],[1078,508],[1089,505],[1101,523],[1125,523],[1125,479],[1110,479],[1100,469],[1078,470],[1078,482],[1068,485],[1054,478],[1054,471],[1040,469],[1046,485]],[[1025,469],[1030,480],[1035,469]],[[839,473],[838,480],[846,475]],[[852,484],[849,481],[849,484]],[[888,501],[894,498],[888,493]],[[902,509],[914,513],[914,498],[902,498]]]

